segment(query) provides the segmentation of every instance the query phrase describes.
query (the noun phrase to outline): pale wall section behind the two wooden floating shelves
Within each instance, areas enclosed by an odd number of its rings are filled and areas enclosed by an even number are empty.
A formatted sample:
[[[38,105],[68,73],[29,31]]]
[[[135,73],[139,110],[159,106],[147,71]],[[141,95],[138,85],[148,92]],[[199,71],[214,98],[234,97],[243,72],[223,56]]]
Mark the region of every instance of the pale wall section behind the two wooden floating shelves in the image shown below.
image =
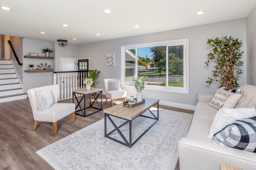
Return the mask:
[[[44,48],[52,49],[52,43],[47,41],[36,41],[23,39],[23,56],[29,55],[29,53],[37,53],[38,56],[45,56],[42,53]],[[51,56],[52,54],[50,54]],[[27,93],[28,89],[41,87],[45,85],[53,85],[52,83],[52,72],[36,72],[36,73],[26,73],[24,70],[28,69],[28,64],[34,64],[34,70],[40,63],[47,63],[52,65],[52,59],[39,59],[39,58],[23,58],[23,92]]]

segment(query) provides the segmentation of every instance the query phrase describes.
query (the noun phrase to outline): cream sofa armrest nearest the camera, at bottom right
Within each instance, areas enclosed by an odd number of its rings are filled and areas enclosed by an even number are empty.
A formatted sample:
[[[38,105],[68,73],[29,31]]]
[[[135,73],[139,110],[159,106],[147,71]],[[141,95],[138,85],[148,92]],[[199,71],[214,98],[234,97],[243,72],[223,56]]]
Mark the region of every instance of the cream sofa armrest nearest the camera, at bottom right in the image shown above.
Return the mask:
[[[220,170],[220,162],[244,170],[256,167],[256,154],[205,141],[181,138],[180,170]]]

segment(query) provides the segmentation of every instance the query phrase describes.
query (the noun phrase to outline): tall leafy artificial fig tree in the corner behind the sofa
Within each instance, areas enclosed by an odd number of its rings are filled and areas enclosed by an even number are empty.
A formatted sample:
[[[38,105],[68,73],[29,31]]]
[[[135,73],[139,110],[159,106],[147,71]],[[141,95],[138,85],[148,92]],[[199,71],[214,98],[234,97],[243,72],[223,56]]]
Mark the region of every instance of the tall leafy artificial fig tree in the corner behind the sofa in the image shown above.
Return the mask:
[[[244,51],[240,52],[242,41],[234,40],[231,36],[229,38],[225,36],[214,40],[208,39],[207,44],[212,46],[213,52],[207,54],[209,60],[205,64],[208,67],[212,63],[216,65],[211,67],[214,68],[212,78],[209,77],[210,80],[206,83],[210,85],[213,81],[219,82],[228,90],[240,87],[237,84],[238,78],[235,76],[243,73],[243,70],[239,69],[243,65],[243,62],[239,60],[244,53]]]

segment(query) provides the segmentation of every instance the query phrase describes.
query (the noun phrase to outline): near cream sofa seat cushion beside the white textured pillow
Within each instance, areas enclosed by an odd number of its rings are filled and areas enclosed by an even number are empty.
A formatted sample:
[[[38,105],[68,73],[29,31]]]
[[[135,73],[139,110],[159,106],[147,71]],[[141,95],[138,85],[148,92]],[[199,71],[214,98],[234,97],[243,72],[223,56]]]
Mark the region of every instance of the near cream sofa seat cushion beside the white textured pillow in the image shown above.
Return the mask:
[[[212,120],[193,117],[186,138],[212,143],[212,140],[207,137],[207,135],[209,135],[211,125]]]

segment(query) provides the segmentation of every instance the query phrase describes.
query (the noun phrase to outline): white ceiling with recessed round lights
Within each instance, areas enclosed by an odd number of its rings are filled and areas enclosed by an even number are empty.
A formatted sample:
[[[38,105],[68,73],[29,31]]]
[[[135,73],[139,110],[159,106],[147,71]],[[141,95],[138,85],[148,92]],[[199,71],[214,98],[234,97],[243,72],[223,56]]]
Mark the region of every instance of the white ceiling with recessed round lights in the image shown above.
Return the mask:
[[[255,4],[256,0],[0,0],[0,6],[12,9],[0,9],[0,34],[84,44],[245,18]],[[196,15],[198,11],[206,12]]]

